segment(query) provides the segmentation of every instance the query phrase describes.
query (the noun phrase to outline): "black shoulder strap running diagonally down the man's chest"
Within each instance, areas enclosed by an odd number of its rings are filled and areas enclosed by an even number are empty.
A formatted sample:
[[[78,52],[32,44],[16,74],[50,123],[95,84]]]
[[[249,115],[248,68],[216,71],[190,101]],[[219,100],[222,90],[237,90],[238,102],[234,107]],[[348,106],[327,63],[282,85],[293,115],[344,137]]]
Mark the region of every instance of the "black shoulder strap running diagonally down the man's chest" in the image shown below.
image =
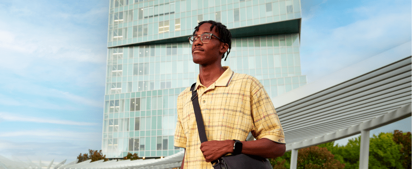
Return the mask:
[[[196,86],[196,83],[192,84],[190,87],[190,91],[192,95],[191,102],[193,104],[194,115],[196,117],[197,130],[199,131],[200,142],[205,142],[207,141],[205,125],[203,123],[202,112],[199,106],[199,99],[197,98],[197,90],[195,90],[194,88],[195,86]]]

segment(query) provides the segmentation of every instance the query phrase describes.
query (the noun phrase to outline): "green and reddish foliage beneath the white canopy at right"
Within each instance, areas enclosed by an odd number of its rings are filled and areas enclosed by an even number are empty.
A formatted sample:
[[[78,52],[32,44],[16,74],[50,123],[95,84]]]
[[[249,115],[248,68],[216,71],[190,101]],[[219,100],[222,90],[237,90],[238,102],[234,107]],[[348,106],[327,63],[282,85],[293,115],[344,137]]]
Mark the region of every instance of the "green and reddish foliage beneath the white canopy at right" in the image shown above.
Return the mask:
[[[412,169],[412,135],[395,130],[373,135],[369,143],[369,169]],[[361,137],[347,145],[327,142],[299,150],[298,169],[359,169]],[[269,159],[273,169],[289,169],[291,152]],[[328,162],[329,160],[330,162]]]

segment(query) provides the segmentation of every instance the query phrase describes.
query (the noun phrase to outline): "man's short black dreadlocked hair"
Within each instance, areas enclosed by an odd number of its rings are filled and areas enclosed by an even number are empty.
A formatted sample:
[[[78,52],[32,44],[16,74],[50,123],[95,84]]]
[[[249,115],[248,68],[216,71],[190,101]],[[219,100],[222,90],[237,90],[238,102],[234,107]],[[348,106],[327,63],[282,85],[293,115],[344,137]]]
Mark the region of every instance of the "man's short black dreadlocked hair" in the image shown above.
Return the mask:
[[[197,27],[194,28],[193,31],[193,35],[195,34],[196,31],[199,31],[199,27],[204,24],[204,23],[209,23],[212,24],[212,26],[210,26],[210,31],[212,31],[212,29],[214,27],[216,27],[216,32],[219,33],[220,39],[224,42],[227,43],[229,45],[229,49],[227,50],[227,54],[226,54],[226,58],[224,58],[224,61],[226,61],[227,59],[227,55],[229,55],[230,53],[230,49],[232,48],[232,34],[230,33],[230,31],[226,28],[226,26],[224,26],[222,23],[220,22],[215,22],[212,20],[208,20],[208,21],[202,21],[199,22],[199,24],[197,25]],[[224,54],[222,55],[222,58],[224,57]]]

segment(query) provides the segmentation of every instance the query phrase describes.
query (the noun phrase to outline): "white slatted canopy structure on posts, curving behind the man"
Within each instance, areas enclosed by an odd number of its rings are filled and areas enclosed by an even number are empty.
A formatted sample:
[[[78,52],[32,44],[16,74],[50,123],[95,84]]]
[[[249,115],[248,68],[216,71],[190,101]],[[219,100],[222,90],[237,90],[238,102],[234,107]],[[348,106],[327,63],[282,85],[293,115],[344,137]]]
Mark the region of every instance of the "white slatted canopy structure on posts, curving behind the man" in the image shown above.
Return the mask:
[[[359,133],[360,169],[367,169],[369,130],[412,114],[412,42],[272,98],[272,102],[285,131],[286,151],[292,151],[291,169],[296,169],[299,149]],[[74,161],[54,169],[170,169],[180,167],[183,155],[182,151],[161,159]],[[0,158],[0,169],[28,168],[33,167]]]

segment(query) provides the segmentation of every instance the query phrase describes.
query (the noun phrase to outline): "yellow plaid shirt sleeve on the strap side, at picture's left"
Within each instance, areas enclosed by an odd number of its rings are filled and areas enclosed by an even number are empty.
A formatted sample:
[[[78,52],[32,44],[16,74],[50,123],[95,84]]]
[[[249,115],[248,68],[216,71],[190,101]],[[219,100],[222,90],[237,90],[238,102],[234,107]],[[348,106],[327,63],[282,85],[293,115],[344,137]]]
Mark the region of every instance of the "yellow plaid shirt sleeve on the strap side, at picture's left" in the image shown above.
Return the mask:
[[[182,97],[179,96],[177,98],[177,122],[176,122],[176,129],[174,130],[174,146],[175,147],[182,147],[186,148],[186,141],[187,137],[185,135],[185,131],[182,127],[181,123],[181,115],[183,114],[183,103],[182,103]]]

